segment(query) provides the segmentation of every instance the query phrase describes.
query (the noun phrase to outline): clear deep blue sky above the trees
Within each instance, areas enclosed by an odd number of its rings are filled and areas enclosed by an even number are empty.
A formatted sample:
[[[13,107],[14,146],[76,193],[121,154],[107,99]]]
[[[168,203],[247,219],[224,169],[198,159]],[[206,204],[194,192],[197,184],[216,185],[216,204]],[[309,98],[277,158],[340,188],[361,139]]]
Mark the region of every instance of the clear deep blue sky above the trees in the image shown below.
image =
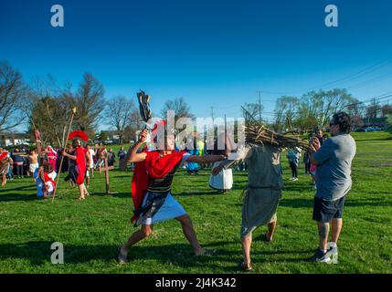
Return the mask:
[[[65,26],[50,26],[50,7]],[[324,8],[339,9],[339,27],[324,26]],[[26,81],[51,73],[78,86],[84,72],[106,97],[145,89],[159,111],[184,97],[198,117],[240,115],[262,91],[265,119],[282,93],[345,78],[366,100],[392,91],[392,2],[387,0],[0,0],[0,59]]]

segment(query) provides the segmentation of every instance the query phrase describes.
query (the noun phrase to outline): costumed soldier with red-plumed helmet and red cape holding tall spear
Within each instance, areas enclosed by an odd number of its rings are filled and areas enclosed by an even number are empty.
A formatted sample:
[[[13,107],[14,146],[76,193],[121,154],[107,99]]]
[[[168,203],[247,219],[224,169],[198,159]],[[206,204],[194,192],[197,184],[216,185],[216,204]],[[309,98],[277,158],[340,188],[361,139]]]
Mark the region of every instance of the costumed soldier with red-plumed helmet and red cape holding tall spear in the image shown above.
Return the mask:
[[[84,200],[85,196],[89,195],[84,179],[86,177],[87,165],[90,165],[90,155],[89,151],[81,146],[79,139],[72,141],[72,148],[72,151],[69,153],[63,151],[63,155],[69,158],[70,177],[74,183],[78,184],[78,200]]]

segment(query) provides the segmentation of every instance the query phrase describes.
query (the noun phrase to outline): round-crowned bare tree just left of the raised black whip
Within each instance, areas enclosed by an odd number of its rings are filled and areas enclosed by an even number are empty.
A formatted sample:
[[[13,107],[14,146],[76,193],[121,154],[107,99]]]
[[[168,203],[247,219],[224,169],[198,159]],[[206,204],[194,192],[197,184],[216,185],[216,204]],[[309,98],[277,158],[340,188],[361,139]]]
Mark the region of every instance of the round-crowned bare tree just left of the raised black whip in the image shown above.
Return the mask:
[[[132,119],[135,119],[135,117],[140,119],[138,115],[135,116],[135,113],[138,112],[133,100],[124,96],[115,96],[107,103],[105,117],[109,124],[117,130],[120,144],[122,144],[126,127],[131,125],[132,122],[138,121]]]

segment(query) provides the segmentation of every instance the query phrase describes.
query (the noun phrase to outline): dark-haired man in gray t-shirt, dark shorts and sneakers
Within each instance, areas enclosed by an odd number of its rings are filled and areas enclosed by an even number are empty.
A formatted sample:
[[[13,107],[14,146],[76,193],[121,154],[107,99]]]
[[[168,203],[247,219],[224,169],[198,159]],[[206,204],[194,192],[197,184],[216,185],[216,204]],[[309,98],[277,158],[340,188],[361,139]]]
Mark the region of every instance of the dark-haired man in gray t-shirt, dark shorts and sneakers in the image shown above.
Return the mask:
[[[337,263],[337,241],[343,225],[343,207],[350,191],[351,163],[355,157],[355,140],[350,135],[352,121],[345,112],[334,114],[330,122],[332,137],[323,146],[314,138],[310,160],[317,165],[317,192],[314,197],[313,220],[317,221],[319,247],[312,261]],[[327,243],[329,223],[332,222],[332,242]]]

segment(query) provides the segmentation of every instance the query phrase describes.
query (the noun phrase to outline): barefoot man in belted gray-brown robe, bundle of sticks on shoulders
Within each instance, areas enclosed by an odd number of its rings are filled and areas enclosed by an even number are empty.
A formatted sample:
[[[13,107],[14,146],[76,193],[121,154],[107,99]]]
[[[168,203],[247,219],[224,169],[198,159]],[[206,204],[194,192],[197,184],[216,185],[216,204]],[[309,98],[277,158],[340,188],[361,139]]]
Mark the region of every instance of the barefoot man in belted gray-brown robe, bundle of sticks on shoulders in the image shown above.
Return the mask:
[[[283,180],[281,177],[281,148],[270,145],[249,144],[221,162],[213,173],[233,167],[246,160],[248,162],[249,183],[245,189],[242,205],[240,238],[244,261],[241,267],[249,271],[252,232],[260,225],[267,225],[265,240],[270,242],[275,233],[277,208],[281,201]]]

